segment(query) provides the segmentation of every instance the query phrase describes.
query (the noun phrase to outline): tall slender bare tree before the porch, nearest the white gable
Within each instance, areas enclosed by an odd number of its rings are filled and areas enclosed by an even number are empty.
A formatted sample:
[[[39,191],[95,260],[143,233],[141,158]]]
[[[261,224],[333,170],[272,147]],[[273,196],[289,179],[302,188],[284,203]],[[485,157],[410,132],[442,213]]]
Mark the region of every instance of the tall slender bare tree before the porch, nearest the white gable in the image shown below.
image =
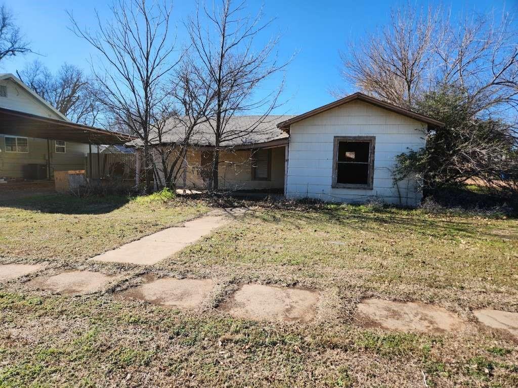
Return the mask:
[[[257,131],[272,109],[278,107],[283,82],[264,97],[255,98],[258,87],[281,72],[288,62],[279,62],[275,49],[279,37],[265,44],[258,37],[271,25],[263,22],[262,9],[255,17],[244,16],[244,2],[220,0],[218,6],[198,9],[186,23],[193,52],[207,74],[205,87],[214,94],[213,120],[208,123],[214,135],[212,189],[218,189],[221,147]],[[261,111],[256,122],[246,128],[228,126],[234,115]]]

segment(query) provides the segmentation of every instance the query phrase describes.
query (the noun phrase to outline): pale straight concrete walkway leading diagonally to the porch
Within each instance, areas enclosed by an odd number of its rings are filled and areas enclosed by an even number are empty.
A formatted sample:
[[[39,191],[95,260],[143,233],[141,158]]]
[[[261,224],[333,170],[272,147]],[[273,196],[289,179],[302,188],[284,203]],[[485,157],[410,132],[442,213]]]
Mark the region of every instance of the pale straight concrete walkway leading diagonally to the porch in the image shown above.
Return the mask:
[[[243,208],[214,210],[207,215],[187,221],[181,227],[172,227],[142,237],[102,253],[90,260],[110,263],[153,265],[182,250],[187,245],[209,234],[212,230],[227,225],[233,218],[244,213]]]

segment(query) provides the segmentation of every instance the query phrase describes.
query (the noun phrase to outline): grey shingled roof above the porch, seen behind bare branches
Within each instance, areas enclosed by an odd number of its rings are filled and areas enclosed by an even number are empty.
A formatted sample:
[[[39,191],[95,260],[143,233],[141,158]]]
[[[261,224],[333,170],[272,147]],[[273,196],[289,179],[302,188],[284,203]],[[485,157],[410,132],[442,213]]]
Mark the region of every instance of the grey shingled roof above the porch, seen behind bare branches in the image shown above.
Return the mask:
[[[232,116],[226,124],[223,147],[250,148],[256,145],[262,147],[268,145],[287,144],[289,135],[277,128],[277,123],[287,120],[293,116],[268,115],[268,116]],[[214,146],[214,132],[210,123],[199,124],[191,137],[191,144],[196,146]],[[183,141],[185,127],[175,118],[170,118],[162,131],[162,143],[175,144]],[[155,135],[151,142],[158,144],[159,139]],[[128,145],[139,145],[139,141],[128,143]]]

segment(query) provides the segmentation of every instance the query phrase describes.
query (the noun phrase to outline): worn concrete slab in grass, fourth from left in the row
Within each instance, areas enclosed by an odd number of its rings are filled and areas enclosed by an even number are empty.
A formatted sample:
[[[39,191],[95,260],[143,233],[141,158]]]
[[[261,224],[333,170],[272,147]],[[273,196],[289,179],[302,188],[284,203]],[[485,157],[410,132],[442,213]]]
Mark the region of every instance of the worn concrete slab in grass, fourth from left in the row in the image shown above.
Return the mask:
[[[220,308],[238,318],[310,322],[319,299],[314,290],[247,284]]]

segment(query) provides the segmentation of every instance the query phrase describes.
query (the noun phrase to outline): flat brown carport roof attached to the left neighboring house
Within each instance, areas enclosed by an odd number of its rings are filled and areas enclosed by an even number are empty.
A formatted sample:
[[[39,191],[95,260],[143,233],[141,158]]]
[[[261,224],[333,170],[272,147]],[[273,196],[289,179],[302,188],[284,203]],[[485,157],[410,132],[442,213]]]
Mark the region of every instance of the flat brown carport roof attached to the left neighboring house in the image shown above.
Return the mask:
[[[3,135],[92,144],[124,144],[133,140],[124,133],[5,108],[0,108],[0,123]]]

